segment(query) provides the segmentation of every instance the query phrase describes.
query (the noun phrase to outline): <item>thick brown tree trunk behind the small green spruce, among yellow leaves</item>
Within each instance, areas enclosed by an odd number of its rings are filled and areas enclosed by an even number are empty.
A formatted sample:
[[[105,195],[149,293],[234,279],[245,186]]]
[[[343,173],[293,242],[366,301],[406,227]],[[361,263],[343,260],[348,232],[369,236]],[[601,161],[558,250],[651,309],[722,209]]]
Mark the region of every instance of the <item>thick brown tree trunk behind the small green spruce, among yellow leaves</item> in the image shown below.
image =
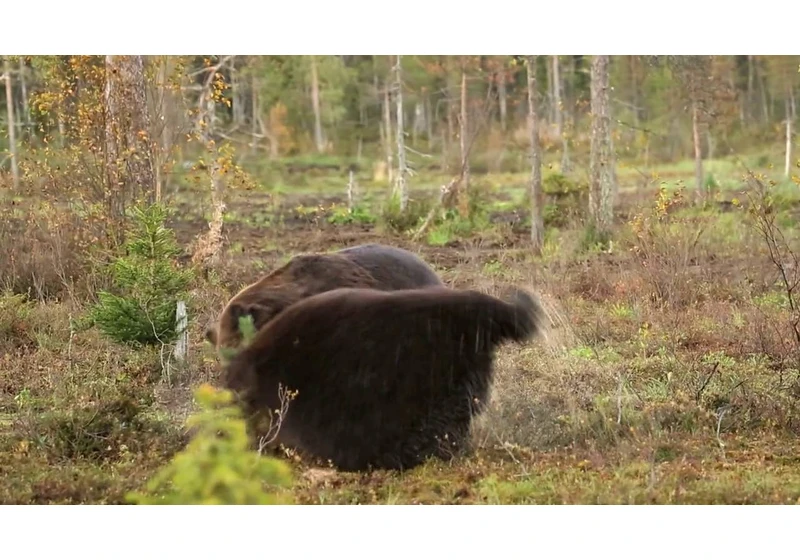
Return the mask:
[[[106,56],[105,121],[107,202],[124,219],[128,202],[152,203],[156,190],[141,56]]]

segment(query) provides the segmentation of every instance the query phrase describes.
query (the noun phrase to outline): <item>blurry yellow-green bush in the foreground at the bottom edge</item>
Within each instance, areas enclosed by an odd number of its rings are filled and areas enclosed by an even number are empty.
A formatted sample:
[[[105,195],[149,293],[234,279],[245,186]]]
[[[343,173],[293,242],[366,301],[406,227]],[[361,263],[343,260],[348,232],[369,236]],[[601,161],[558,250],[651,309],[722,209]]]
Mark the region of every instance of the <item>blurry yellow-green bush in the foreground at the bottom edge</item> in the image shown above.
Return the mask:
[[[195,392],[201,412],[189,419],[197,434],[164,469],[134,492],[136,504],[280,504],[291,484],[289,467],[250,449],[247,429],[229,391],[202,385]],[[265,488],[265,485],[268,488]]]

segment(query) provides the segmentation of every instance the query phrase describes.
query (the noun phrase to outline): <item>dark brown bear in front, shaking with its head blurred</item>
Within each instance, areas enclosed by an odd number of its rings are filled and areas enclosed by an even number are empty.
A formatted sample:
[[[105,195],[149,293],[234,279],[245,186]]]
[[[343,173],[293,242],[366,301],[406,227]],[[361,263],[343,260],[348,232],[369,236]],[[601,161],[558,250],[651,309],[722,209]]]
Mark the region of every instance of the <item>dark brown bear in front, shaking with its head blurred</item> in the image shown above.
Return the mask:
[[[342,288],[303,299],[263,327],[223,371],[256,418],[295,393],[274,443],[344,471],[409,469],[466,449],[497,347],[542,331],[522,291]]]

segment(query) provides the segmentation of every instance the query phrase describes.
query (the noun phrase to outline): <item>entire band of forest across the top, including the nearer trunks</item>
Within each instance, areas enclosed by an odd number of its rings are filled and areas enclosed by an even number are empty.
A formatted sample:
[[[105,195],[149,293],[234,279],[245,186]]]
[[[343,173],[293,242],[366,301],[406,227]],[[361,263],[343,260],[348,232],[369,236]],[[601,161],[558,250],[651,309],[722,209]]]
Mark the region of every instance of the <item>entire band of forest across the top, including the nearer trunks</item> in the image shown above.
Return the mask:
[[[208,268],[226,189],[270,183],[276,166],[391,185],[385,213],[402,219],[387,220],[415,238],[452,212],[472,223],[471,176],[530,173],[538,250],[546,166],[588,191],[605,243],[617,162],[649,184],[652,166],[693,159],[698,200],[715,157],[778,153],[790,177],[799,68],[800,56],[760,55],[3,56],[0,194],[34,194],[59,254],[88,254],[124,244],[132,208],[196,183],[211,211],[190,252]],[[407,208],[421,170],[451,178],[424,216]],[[3,230],[12,206],[0,205],[0,238],[39,231],[32,212]]]

